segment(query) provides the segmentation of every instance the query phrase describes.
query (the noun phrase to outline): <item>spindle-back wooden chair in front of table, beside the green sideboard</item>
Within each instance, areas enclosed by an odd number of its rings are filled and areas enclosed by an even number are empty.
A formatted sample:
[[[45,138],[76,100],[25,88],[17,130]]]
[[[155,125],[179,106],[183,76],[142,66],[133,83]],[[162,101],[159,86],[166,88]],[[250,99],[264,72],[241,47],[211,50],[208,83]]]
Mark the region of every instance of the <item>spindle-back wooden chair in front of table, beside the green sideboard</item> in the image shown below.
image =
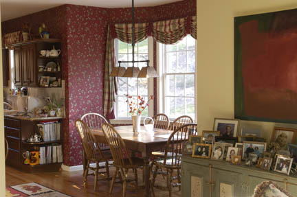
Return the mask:
[[[190,135],[194,135],[197,132],[197,124],[185,124],[175,129],[166,143],[164,158],[155,160],[153,165],[155,170],[153,173],[153,180],[151,181],[152,190],[153,187],[158,189],[166,189],[171,196],[172,188],[179,187],[181,189],[181,153],[184,143],[188,141]],[[177,172],[177,176],[173,176],[173,172]],[[155,185],[155,178],[157,174],[166,176],[166,187],[162,185]],[[173,181],[177,180],[177,183]],[[153,192],[153,196],[155,196]]]

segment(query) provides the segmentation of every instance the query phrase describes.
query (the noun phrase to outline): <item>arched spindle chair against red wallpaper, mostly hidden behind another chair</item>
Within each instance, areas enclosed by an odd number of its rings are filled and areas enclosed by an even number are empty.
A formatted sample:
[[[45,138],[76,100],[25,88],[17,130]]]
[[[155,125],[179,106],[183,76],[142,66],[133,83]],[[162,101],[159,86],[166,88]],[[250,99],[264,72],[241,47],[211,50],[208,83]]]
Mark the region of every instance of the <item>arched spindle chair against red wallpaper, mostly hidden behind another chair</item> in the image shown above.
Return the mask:
[[[86,113],[80,118],[91,129],[100,129],[103,123],[108,123],[107,119],[98,113]],[[108,150],[109,146],[106,143],[98,143],[100,150]]]

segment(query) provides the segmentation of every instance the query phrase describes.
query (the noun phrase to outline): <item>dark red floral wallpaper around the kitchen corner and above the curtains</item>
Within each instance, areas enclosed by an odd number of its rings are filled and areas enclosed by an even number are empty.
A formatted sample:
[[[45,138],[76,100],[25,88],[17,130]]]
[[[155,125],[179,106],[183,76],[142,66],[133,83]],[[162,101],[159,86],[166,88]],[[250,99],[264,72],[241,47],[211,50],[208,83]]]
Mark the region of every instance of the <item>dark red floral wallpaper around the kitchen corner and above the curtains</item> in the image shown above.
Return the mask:
[[[136,8],[135,21],[176,19],[196,14],[196,1],[185,0]],[[102,113],[105,41],[108,23],[131,23],[131,8],[62,5],[2,23],[2,34],[21,30],[27,22],[37,34],[44,22],[50,37],[61,38],[66,118],[63,120],[64,164],[82,164],[80,137],[74,122],[87,112]],[[155,48],[155,47],[154,47]],[[154,65],[156,65],[154,56]]]

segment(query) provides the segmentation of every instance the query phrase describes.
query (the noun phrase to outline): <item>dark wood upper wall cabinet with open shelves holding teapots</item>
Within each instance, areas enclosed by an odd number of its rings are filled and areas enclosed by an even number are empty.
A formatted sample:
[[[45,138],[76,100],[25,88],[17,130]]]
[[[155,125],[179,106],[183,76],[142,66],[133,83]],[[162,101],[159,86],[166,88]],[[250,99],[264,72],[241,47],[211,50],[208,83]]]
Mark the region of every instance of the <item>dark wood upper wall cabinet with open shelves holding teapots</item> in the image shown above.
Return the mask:
[[[61,42],[58,39],[36,39],[29,40],[23,43],[15,43],[12,45],[14,50],[14,85],[15,86],[41,86],[41,79],[47,78],[50,80],[46,86],[61,86],[62,80],[62,62],[61,55],[41,56],[39,51],[61,49]],[[52,69],[47,69],[48,63],[51,63]],[[56,68],[54,68],[54,65]],[[58,69],[59,68],[59,69]]]

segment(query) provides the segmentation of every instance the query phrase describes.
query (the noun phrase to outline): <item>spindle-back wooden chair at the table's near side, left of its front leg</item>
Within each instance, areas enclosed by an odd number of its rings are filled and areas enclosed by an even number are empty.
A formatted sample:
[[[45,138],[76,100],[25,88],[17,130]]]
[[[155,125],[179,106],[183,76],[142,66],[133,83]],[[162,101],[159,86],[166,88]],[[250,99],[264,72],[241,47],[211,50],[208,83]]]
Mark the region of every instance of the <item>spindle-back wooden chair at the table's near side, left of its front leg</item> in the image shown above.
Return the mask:
[[[122,137],[118,134],[118,132],[111,126],[110,124],[102,124],[102,130],[104,132],[104,136],[109,143],[109,147],[111,149],[111,154],[113,157],[113,166],[115,166],[115,174],[113,175],[111,186],[109,189],[109,194],[113,191],[113,185],[115,183],[115,178],[118,175],[122,180],[122,196],[126,196],[126,184],[130,181],[135,181],[135,187],[137,189],[137,167],[143,167],[144,161],[137,157],[130,157],[124,141]],[[134,179],[127,180],[127,174],[129,169],[132,169],[134,172]]]

